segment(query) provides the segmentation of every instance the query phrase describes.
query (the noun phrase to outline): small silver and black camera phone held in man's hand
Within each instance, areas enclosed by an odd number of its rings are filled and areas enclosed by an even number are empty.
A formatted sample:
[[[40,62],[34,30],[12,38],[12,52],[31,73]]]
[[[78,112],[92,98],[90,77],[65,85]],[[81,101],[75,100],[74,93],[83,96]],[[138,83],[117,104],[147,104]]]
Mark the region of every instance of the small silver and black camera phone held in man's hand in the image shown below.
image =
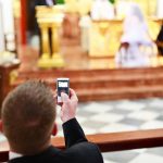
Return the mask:
[[[57,78],[57,101],[58,103],[62,103],[63,101],[61,98],[61,92],[65,92],[67,96],[70,96],[70,78]]]

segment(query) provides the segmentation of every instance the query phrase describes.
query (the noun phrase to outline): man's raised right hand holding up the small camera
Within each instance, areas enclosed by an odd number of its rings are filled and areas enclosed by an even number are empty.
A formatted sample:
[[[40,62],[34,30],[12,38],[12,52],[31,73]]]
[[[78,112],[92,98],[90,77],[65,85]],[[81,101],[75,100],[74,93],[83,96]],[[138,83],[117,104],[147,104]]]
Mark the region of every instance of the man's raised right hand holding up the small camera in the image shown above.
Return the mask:
[[[76,116],[76,109],[78,104],[78,99],[73,89],[70,88],[70,97],[61,92],[61,98],[63,101],[63,104],[61,105],[61,120],[63,123],[70,121],[71,118],[74,118]]]

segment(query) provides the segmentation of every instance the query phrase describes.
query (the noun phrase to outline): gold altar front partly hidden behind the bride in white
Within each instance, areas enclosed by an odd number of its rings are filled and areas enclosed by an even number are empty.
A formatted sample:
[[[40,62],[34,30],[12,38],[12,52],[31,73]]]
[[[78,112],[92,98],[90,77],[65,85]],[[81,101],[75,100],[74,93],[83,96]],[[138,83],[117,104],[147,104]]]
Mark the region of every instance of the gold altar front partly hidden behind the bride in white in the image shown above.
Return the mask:
[[[150,36],[153,40],[155,40],[160,30],[160,26],[162,24],[162,20],[149,18],[147,20],[147,22],[149,26]],[[123,20],[93,21],[89,34],[89,57],[114,58],[121,43],[120,40],[122,34]]]

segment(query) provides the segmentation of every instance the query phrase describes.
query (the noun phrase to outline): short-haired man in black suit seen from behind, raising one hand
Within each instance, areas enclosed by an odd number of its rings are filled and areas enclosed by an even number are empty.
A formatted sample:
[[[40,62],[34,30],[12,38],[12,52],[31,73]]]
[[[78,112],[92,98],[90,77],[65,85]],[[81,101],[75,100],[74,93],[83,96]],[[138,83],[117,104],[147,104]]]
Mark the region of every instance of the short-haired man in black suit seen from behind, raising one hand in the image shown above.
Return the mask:
[[[9,163],[103,163],[98,147],[88,142],[75,118],[78,99],[61,93],[61,120],[66,149],[51,146],[55,102],[42,82],[26,82],[11,91],[2,104],[2,131],[10,145]]]

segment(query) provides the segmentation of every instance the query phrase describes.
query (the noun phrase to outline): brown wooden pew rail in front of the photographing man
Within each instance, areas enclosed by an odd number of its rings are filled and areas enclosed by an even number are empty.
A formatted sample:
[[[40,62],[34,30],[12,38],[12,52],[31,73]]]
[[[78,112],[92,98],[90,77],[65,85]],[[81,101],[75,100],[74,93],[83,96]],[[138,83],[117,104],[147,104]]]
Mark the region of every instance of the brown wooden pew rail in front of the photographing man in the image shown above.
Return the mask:
[[[99,146],[101,152],[122,151],[141,148],[163,147],[163,129],[108,133],[88,135],[88,140]],[[51,139],[53,146],[64,149],[63,137]],[[8,161],[8,142],[0,143],[0,162]]]

